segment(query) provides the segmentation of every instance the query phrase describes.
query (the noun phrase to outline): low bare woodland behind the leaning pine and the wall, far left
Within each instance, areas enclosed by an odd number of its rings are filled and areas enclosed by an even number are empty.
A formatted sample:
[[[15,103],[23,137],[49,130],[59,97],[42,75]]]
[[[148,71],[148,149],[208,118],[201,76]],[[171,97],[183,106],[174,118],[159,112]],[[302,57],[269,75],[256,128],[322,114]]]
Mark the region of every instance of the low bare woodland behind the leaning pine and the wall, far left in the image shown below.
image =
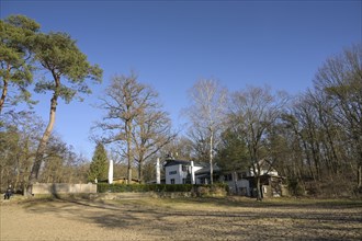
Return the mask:
[[[30,177],[44,123],[32,112],[8,112],[1,116],[1,191],[8,185],[23,191]],[[86,182],[89,162],[65,144],[57,134],[49,138],[37,182]]]

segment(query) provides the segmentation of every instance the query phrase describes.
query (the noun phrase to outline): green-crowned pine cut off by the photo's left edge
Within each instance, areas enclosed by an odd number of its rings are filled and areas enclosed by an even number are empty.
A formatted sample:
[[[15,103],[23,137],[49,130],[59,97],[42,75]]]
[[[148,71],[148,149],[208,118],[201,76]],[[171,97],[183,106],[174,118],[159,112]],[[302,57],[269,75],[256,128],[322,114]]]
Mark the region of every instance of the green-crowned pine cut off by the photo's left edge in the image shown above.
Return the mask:
[[[34,62],[30,50],[39,24],[23,15],[0,20],[0,114],[5,106],[31,100]]]

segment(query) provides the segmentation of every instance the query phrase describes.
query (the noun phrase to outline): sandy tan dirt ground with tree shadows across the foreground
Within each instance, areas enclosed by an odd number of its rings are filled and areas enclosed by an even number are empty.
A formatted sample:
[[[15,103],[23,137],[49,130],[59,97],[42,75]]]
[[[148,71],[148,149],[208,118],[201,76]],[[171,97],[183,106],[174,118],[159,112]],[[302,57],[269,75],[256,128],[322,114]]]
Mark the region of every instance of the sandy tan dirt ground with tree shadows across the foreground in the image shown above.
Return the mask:
[[[0,225],[1,240],[362,240],[362,202],[2,200]]]

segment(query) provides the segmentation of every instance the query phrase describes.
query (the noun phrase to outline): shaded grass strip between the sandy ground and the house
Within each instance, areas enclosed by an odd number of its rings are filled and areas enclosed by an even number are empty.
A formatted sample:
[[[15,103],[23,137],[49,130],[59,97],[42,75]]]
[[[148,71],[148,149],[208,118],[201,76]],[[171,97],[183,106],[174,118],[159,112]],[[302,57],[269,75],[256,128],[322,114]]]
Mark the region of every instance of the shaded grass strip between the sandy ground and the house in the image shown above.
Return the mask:
[[[225,210],[228,208],[306,208],[306,209],[360,209],[362,199],[314,199],[314,198],[265,198],[257,202],[254,198],[227,196],[227,197],[177,197],[177,198],[154,198],[139,197],[133,199],[94,200],[89,194],[61,194],[61,195],[36,195],[24,198],[16,203],[42,204],[48,202],[77,202],[110,203],[123,206],[139,206],[148,208],[166,209],[199,209],[199,210]]]

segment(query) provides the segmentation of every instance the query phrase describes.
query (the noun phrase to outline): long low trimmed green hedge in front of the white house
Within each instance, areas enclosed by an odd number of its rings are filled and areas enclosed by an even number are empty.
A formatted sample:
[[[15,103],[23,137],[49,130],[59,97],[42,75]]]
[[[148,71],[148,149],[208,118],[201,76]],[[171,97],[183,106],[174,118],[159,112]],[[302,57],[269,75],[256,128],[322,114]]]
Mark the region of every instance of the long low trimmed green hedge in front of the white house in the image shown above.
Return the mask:
[[[192,192],[199,186],[213,188],[223,188],[228,191],[228,185],[225,183],[216,183],[213,185],[192,185],[192,184],[108,184],[98,183],[98,193],[145,193],[145,192]]]

